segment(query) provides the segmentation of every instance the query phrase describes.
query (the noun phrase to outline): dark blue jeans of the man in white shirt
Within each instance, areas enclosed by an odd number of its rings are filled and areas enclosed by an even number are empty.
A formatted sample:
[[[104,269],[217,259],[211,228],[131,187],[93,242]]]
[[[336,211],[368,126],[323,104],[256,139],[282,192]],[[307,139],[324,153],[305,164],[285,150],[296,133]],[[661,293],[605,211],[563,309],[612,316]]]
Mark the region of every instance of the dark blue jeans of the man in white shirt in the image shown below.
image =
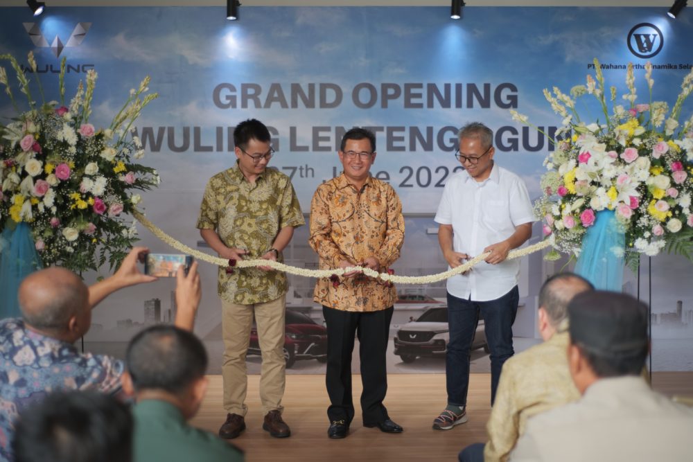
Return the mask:
[[[448,326],[450,341],[445,360],[448,404],[466,406],[469,388],[469,353],[480,316],[484,319],[486,343],[491,350],[491,406],[495,400],[500,371],[511,357],[513,330],[520,299],[518,287],[500,299],[472,301],[458,299],[448,293]]]

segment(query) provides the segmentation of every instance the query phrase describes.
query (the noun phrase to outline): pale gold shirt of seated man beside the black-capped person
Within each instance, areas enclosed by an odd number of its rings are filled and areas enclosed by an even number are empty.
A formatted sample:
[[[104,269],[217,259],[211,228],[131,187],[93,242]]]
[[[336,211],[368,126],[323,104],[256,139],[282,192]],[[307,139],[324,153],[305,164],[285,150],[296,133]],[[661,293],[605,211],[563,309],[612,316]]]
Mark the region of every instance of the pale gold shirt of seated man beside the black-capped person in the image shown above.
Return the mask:
[[[503,364],[486,431],[484,461],[507,461],[527,419],[580,398],[568,370],[568,332],[556,332],[542,344]]]

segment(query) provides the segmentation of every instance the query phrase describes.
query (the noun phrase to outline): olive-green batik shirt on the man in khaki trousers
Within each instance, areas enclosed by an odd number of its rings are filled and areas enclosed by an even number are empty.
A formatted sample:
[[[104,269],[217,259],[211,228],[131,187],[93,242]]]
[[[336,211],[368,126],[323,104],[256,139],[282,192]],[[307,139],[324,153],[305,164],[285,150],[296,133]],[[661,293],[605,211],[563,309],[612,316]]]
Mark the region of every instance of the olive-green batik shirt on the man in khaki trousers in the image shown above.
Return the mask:
[[[227,247],[248,251],[247,258],[260,258],[272,248],[286,226],[305,224],[299,199],[289,177],[267,168],[254,184],[236,165],[209,180],[204,190],[198,229],[213,229]],[[282,262],[281,252],[277,261]],[[234,268],[233,274],[219,268],[219,296],[229,303],[250,305],[279,299],[286,293],[286,274],[258,268]]]

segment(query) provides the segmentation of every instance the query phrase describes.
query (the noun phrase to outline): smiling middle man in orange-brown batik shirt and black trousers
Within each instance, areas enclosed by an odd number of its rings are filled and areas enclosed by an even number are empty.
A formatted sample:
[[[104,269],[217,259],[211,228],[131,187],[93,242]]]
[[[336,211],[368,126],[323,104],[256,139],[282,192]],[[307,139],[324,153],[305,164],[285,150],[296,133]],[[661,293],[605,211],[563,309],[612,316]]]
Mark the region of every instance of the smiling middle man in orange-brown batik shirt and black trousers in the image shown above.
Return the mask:
[[[367,267],[387,272],[399,258],[404,242],[402,204],[392,186],[371,177],[376,137],[362,128],[342,138],[344,172],[320,185],[310,204],[310,247],[320,269]],[[331,405],[328,436],[344,438],[354,416],[351,398],[351,352],[354,335],[360,342],[363,425],[387,433],[402,427],[383,406],[387,391],[385,350],[397,292],[392,284],[360,271],[341,278],[322,278],[314,301],[322,304],[327,324],[326,385]]]

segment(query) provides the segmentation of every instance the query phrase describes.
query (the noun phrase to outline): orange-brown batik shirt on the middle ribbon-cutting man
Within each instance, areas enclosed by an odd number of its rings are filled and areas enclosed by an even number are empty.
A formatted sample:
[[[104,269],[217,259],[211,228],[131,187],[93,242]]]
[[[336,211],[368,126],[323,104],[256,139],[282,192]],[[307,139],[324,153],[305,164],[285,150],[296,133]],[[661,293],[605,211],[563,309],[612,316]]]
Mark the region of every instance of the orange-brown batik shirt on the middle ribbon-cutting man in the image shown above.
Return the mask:
[[[353,264],[374,256],[380,272],[399,258],[404,242],[402,203],[392,186],[369,177],[357,190],[340,175],[318,186],[310,204],[310,247],[319,256],[320,269]],[[313,300],[344,311],[378,311],[394,305],[397,292],[380,279],[358,274],[340,278],[334,287],[330,278],[319,278]]]

